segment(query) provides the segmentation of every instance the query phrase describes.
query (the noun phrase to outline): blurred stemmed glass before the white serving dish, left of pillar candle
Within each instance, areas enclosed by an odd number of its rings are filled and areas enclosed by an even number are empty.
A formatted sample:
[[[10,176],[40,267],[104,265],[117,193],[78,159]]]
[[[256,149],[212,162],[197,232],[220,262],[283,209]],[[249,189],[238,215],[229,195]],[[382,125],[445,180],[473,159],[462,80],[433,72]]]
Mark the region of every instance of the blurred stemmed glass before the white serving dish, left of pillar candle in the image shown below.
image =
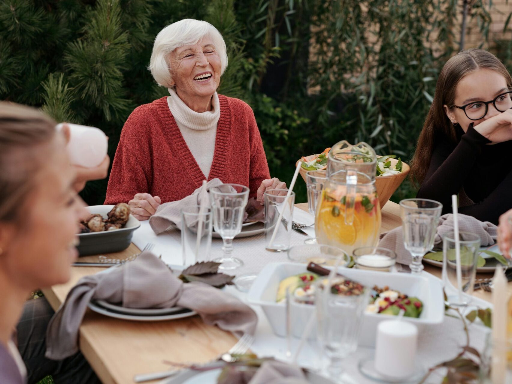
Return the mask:
[[[333,276],[315,284],[318,341],[329,357],[328,373],[338,382],[345,357],[355,352],[362,313],[370,289],[354,281]]]

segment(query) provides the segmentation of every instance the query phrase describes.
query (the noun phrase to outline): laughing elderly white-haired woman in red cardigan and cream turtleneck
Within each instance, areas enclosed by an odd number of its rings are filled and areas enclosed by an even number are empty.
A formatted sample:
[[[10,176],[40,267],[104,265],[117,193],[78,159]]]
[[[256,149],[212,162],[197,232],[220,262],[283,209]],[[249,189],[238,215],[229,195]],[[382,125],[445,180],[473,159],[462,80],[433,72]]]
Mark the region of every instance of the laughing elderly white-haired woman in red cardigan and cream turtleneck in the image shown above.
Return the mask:
[[[190,195],[203,179],[242,184],[262,199],[270,178],[254,114],[218,95],[226,44],[206,21],[184,19],[157,35],[149,69],[170,96],[137,107],[121,132],[105,204],[128,202],[140,220]]]

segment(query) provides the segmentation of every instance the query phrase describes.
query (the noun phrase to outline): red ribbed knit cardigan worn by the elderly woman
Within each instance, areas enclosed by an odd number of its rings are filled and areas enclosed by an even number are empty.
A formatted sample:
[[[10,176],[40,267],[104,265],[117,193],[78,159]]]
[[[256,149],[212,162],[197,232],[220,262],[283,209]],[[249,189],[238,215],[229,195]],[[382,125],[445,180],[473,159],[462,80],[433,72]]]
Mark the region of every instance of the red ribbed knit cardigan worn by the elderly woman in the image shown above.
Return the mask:
[[[255,196],[270,178],[260,131],[249,105],[219,95],[214,159],[207,180],[242,184]],[[202,184],[205,175],[167,105],[167,97],[141,105],[121,131],[104,204],[128,202],[136,193],[180,200]]]

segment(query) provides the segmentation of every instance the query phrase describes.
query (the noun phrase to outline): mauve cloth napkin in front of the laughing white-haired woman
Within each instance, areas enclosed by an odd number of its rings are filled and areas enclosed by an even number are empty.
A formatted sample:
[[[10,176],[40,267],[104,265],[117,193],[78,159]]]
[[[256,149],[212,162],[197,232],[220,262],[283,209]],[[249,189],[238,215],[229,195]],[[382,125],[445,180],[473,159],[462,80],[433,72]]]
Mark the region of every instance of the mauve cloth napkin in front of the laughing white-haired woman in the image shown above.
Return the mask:
[[[208,195],[208,188],[221,185],[222,182],[220,179],[213,178],[206,183],[206,188],[201,186],[190,196],[177,201],[164,202],[164,204],[161,204],[160,207],[157,208],[155,214],[150,217],[151,228],[157,235],[172,229],[181,230],[181,210],[190,206],[209,207],[210,197]]]

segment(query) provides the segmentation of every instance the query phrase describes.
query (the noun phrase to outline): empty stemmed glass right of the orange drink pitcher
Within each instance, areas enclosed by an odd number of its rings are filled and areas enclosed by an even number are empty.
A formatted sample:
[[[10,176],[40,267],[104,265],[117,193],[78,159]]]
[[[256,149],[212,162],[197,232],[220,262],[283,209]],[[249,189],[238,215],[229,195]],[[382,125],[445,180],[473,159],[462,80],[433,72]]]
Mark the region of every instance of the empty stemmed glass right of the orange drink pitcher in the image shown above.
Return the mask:
[[[400,201],[403,245],[413,257],[409,264],[414,275],[421,274],[423,256],[432,251],[439,216],[443,205],[429,199],[405,199]]]

